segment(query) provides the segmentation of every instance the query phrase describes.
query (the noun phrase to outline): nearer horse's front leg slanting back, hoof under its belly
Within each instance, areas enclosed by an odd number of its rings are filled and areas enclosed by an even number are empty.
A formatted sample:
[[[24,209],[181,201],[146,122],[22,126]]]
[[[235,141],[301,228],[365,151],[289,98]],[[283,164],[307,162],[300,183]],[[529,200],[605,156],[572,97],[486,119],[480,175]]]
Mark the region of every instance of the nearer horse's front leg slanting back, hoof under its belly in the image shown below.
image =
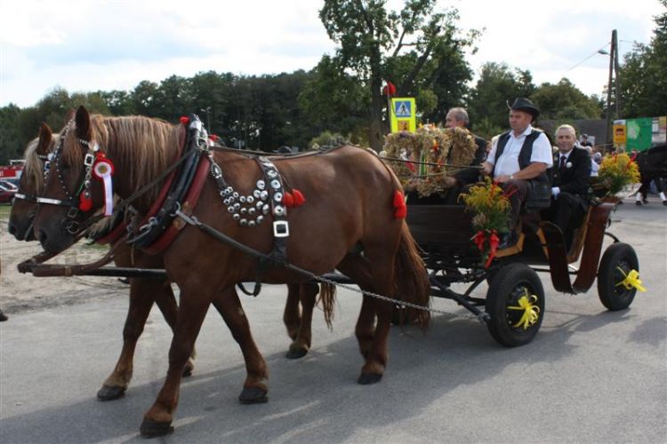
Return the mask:
[[[238,400],[244,404],[266,402],[269,388],[265,381],[269,379],[269,369],[254,343],[250,325],[241,307],[241,301],[238,300],[236,289],[229,287],[223,291],[219,297],[213,299],[213,305],[221,313],[229,331],[241,347],[245,360],[245,383]]]

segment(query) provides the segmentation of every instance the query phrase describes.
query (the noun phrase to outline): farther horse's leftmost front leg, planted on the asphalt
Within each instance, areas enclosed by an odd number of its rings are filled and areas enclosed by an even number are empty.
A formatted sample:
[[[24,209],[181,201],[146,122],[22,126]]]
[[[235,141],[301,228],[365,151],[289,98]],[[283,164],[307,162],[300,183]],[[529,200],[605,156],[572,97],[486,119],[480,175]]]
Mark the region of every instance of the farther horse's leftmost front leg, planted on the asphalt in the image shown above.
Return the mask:
[[[130,384],[133,373],[134,349],[149,317],[150,308],[153,306],[154,299],[148,297],[148,295],[155,291],[155,282],[152,279],[132,279],[130,281],[130,306],[127,310],[123,329],[123,349],[118,357],[116,367],[97,392],[97,397],[100,400],[117,400],[125,394],[127,385]],[[158,292],[164,291],[165,285],[168,284],[160,285]],[[173,305],[175,313],[175,301],[173,301]]]

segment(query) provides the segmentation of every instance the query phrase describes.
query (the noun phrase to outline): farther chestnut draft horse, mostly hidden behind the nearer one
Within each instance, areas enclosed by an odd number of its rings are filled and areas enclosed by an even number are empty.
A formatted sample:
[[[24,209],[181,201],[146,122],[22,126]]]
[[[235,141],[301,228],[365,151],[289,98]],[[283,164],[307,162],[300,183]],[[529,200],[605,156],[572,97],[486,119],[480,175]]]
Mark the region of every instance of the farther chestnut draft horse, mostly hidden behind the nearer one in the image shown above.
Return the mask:
[[[74,117],[72,113],[71,117]],[[28,143],[24,159],[26,160],[23,174],[20,178],[19,195],[12,205],[9,218],[9,233],[19,241],[35,241],[33,231],[33,217],[36,210],[36,195],[39,194],[44,182],[44,161],[52,153],[58,141],[59,134],[53,134],[48,125],[42,124],[39,137]],[[92,233],[108,231],[112,218],[106,218],[92,226]],[[93,237],[95,237],[93,235]],[[117,266],[137,266],[139,268],[163,268],[161,255],[151,256],[141,250],[131,250],[123,239],[119,242],[114,261]],[[325,320],[330,325],[333,311],[333,289],[329,284],[323,284],[323,309]],[[313,307],[318,292],[317,284],[304,283],[289,285],[287,302],[285,304],[284,321],[287,333],[293,339],[287,357],[290,359],[305,356],[310,347],[311,321]],[[237,297],[235,289],[227,290],[226,297]],[[165,316],[165,321],[173,329],[176,323],[176,299],[173,295],[171,281],[158,278],[133,278],[130,280],[130,305],[123,329],[123,349],[118,357],[116,367],[102,384],[97,397],[100,400],[116,400],[125,394],[133,374],[133,354],[141,332],[143,331],[150,309],[155,303]],[[300,313],[300,304],[302,313]],[[193,350],[183,369],[183,376],[188,377],[194,369]]]

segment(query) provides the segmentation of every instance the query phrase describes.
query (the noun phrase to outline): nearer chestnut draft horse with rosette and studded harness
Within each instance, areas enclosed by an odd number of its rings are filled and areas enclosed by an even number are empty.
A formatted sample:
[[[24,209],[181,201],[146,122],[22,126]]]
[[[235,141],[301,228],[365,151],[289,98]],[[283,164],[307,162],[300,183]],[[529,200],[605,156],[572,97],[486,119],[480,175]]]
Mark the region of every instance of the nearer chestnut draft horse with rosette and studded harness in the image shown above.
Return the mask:
[[[99,146],[114,164],[115,192],[126,199],[160,178],[176,162],[177,131],[176,125],[148,117],[91,117],[84,107],[79,107],[75,122],[62,136],[64,142],[44,185],[44,198],[68,200],[76,195],[91,168],[84,166],[84,157],[91,153],[89,147]],[[203,157],[202,162],[208,162]],[[239,194],[251,193],[262,178],[259,164],[245,155],[219,151],[213,154],[213,161]],[[285,183],[299,189],[307,200],[292,208],[286,217],[291,233],[286,252],[292,266],[313,274],[337,268],[366,292],[399,297],[422,306],[429,304],[426,269],[405,219],[397,217],[394,206],[397,194],[401,195],[398,178],[376,155],[359,147],[344,146],[325,154],[276,160],[275,165]],[[101,186],[99,181],[93,182],[92,209],[99,210]],[[146,214],[156,195],[153,187],[133,206]],[[78,207],[78,202],[72,205]],[[35,229],[45,250],[67,248],[75,236],[70,233],[72,221],[81,222],[91,214],[78,214],[73,219],[68,218],[68,211],[62,206],[38,205]],[[199,201],[191,211],[192,217],[246,247],[265,254],[272,249],[272,225],[241,226],[229,214],[211,177],[206,178]],[[358,247],[363,253],[358,252]],[[141,424],[145,436],[173,431],[181,370],[211,303],[221,312],[244,354],[247,378],[242,399],[265,401],[268,392],[266,362],[254,345],[245,314],[237,297],[223,293],[237,282],[254,280],[258,274],[256,258],[227,242],[214,241],[197,226],[185,225],[165,250],[164,263],[167,274],[181,289],[181,305],[165,383]],[[265,271],[262,281],[301,283],[308,279],[293,268],[276,266]],[[365,359],[358,378],[360,384],[376,383],[382,378],[393,310],[392,304],[366,292],[355,329]],[[415,318],[425,327],[429,313],[420,310]]]

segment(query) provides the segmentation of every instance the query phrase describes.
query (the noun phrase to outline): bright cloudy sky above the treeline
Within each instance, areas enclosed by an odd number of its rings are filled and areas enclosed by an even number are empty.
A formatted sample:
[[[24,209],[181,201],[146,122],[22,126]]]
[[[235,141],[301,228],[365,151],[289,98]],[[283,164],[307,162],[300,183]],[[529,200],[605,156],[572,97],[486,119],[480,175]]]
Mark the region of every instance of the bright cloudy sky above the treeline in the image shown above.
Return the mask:
[[[30,107],[54,88],[131,91],[142,80],[202,71],[262,75],[309,70],[336,45],[318,0],[0,0],[0,107]],[[389,0],[398,9],[400,0]],[[584,93],[607,83],[612,29],[620,54],[647,44],[658,0],[450,0],[459,28],[483,30],[469,54],[527,69],[536,84],[567,77]],[[622,79],[623,80],[623,79]],[[510,98],[508,98],[510,99]]]

